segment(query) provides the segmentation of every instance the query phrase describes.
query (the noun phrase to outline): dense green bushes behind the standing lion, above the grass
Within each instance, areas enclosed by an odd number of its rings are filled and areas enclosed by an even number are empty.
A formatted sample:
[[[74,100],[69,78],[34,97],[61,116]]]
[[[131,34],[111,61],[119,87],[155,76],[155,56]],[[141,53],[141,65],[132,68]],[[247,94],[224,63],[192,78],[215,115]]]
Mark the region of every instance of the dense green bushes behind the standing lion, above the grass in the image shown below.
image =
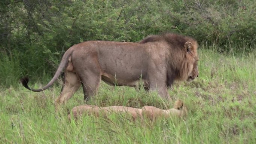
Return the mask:
[[[255,9],[253,0],[1,0],[0,85],[24,75],[48,81],[65,50],[86,40],[174,32],[219,52],[250,52]]]

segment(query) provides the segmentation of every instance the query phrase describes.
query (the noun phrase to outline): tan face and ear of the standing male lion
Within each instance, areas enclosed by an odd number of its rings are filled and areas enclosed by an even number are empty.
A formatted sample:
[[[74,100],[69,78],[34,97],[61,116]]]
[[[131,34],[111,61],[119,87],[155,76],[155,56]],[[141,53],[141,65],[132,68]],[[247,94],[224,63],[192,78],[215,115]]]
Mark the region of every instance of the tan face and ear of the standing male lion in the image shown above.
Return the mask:
[[[187,58],[187,66],[188,66],[188,78],[186,79],[187,82],[191,82],[193,79],[198,77],[198,55],[197,55],[197,43],[186,42],[185,43],[185,50],[186,50],[186,58]]]

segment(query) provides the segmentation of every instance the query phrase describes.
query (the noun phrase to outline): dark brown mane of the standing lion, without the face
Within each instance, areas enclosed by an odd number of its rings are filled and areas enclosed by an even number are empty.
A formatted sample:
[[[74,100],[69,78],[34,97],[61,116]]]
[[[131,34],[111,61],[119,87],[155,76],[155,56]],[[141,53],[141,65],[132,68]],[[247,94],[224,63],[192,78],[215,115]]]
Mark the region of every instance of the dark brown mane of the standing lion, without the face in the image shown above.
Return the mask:
[[[191,58],[193,56],[197,56],[197,42],[191,37],[183,36],[181,34],[175,34],[175,33],[164,33],[160,35],[150,35],[147,36],[145,39],[141,40],[139,43],[145,44],[145,43],[164,43],[169,46],[168,50],[170,52],[167,52],[167,86],[171,86],[174,82],[174,79],[176,78],[184,78],[188,73],[188,65],[191,63]],[[185,43],[190,42],[192,44],[192,53],[186,55],[186,47]],[[164,48],[162,48],[164,49]]]

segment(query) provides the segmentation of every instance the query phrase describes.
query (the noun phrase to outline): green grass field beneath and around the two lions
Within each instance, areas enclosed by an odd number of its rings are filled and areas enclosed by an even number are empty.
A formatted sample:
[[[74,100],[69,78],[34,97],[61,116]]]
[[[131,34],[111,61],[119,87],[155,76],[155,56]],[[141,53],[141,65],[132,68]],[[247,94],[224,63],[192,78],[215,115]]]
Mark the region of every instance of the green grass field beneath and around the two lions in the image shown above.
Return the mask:
[[[67,109],[83,103],[81,89],[55,118],[53,101],[61,86],[45,92],[22,88],[1,89],[0,143],[18,144],[255,144],[256,58],[254,53],[234,56],[199,50],[199,77],[179,83],[169,91],[189,109],[186,119],[131,122],[125,116],[82,117],[67,120]],[[42,84],[34,86],[40,87]],[[98,106],[153,105],[170,108],[155,93],[101,83],[99,94],[88,104]]]

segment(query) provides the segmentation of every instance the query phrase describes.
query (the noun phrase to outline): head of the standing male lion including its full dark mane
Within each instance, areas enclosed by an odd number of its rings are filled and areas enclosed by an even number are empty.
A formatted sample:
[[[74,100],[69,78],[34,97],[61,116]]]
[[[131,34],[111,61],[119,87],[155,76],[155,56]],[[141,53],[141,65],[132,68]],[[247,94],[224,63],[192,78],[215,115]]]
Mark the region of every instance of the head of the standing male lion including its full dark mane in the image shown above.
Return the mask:
[[[198,44],[191,37],[174,33],[150,35],[139,43],[160,42],[168,45],[167,67],[168,85],[173,80],[191,82],[198,77]]]

